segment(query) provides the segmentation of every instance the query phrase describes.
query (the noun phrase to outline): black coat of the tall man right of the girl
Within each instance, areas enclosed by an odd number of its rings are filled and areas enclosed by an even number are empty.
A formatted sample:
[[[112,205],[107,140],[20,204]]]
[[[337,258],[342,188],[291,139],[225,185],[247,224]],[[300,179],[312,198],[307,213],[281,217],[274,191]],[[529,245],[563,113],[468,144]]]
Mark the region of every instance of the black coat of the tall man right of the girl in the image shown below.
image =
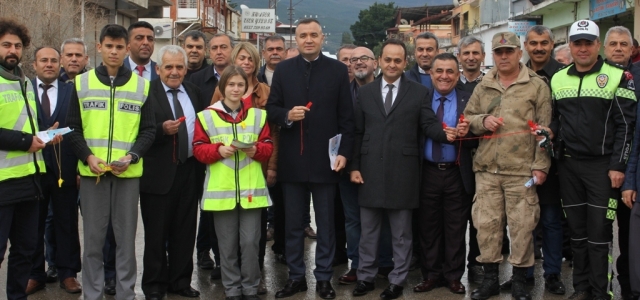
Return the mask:
[[[287,124],[294,106],[312,107],[302,121]],[[308,62],[301,55],[278,63],[267,101],[269,121],[281,126],[278,181],[337,183],[331,170],[329,139],[342,134],[339,155],[353,149],[353,105],[347,66],[322,54]]]

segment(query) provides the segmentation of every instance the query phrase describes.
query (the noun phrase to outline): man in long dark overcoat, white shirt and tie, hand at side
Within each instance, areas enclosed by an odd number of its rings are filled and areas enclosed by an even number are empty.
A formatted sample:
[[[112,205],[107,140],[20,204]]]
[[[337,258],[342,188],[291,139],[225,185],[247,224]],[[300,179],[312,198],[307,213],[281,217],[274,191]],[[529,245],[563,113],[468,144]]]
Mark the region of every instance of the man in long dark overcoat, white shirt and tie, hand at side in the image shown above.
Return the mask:
[[[389,286],[380,297],[396,299],[406,284],[413,252],[412,215],[418,208],[420,153],[424,147],[421,122],[426,127],[428,120],[437,122],[427,106],[429,90],[403,74],[407,65],[404,43],[397,39],[384,42],[379,63],[382,76],[360,87],[354,114],[356,141],[349,170],[351,181],[361,184],[361,236],[353,295],[363,296],[375,288],[380,228],[386,214],[391,225],[394,268],[388,276]]]

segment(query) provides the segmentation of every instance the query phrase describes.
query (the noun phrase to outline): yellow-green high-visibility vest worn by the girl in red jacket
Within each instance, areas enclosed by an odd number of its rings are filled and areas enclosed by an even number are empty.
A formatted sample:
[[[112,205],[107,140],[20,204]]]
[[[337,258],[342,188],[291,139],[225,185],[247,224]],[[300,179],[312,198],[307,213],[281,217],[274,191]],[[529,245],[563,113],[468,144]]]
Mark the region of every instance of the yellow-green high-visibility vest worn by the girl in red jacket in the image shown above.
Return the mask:
[[[232,123],[223,120],[216,111],[206,109],[198,113],[198,120],[212,144],[230,146],[234,139],[243,143],[257,142],[266,122],[266,113],[250,108],[244,121]],[[260,162],[240,150],[207,166],[201,207],[207,211],[223,211],[234,209],[236,204],[245,209],[271,205]]]

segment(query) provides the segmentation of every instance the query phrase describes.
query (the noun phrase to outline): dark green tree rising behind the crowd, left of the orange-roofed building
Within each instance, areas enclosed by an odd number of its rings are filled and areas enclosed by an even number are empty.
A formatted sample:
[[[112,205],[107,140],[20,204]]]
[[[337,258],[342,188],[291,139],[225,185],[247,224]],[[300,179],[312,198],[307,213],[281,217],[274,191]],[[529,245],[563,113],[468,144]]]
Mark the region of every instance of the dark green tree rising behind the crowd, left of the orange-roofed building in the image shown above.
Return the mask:
[[[361,10],[358,21],[351,25],[354,44],[373,49],[387,37],[387,29],[394,26],[395,12],[394,2],[375,2],[369,8]]]

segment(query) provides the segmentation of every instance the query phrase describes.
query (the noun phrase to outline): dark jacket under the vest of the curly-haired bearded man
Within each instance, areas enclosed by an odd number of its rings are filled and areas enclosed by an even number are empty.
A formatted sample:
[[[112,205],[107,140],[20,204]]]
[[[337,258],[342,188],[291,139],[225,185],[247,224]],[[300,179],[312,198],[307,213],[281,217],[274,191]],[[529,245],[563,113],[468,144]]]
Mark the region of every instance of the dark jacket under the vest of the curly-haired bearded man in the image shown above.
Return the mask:
[[[28,91],[28,89],[32,88],[31,81],[29,81],[29,79],[25,77],[20,67],[16,66],[14,71],[15,72],[10,73],[0,66],[0,76],[8,80],[20,81],[20,85],[24,88],[22,91],[16,92],[22,94],[22,99],[25,101],[25,105],[27,105],[26,92]],[[0,150],[29,150],[33,141],[33,136],[39,131],[39,129],[38,120],[32,118],[32,116],[29,116],[28,122],[33,125],[30,132],[0,128]],[[45,170],[39,169],[38,165],[35,163],[36,155],[31,155],[34,159],[36,174],[1,181],[0,195],[2,195],[2,197],[0,197],[0,205],[8,205],[24,201],[34,201],[38,200],[41,197],[42,192],[40,189],[40,175],[38,173],[45,172]]]

